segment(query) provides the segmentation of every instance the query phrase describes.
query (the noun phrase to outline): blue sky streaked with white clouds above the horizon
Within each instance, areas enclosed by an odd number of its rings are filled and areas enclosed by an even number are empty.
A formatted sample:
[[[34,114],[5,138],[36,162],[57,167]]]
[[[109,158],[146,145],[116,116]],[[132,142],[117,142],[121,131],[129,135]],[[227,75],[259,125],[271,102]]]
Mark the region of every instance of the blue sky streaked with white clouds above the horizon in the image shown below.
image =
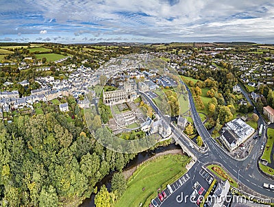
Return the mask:
[[[274,43],[268,0],[0,0],[0,42]]]

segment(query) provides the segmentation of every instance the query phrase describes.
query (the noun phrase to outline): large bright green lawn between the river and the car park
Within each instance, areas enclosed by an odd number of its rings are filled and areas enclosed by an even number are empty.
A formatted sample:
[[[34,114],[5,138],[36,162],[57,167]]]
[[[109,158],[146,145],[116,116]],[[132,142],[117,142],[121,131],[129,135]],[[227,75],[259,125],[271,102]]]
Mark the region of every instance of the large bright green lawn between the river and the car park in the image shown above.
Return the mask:
[[[115,206],[139,206],[140,203],[149,206],[151,199],[157,196],[158,188],[166,188],[166,184],[186,173],[184,166],[189,160],[187,156],[168,155],[143,163],[129,178],[127,191]]]

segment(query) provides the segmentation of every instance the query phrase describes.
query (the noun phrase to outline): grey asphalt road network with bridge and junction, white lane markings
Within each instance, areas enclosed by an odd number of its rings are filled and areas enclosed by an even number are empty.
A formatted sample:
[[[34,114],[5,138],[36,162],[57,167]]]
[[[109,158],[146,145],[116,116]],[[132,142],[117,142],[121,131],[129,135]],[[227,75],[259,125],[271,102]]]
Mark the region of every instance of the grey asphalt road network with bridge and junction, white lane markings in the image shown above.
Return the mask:
[[[191,153],[196,156],[198,163],[219,163],[223,165],[223,167],[227,169],[227,171],[229,171],[229,173],[232,174],[234,178],[239,178],[240,184],[244,184],[248,188],[252,189],[253,191],[256,191],[257,193],[260,193],[261,195],[274,198],[273,191],[267,191],[265,188],[262,187],[263,182],[274,184],[273,180],[265,178],[263,175],[260,174],[260,172],[257,169],[257,158],[262,153],[260,147],[266,139],[266,130],[263,130],[262,137],[256,140],[256,145],[254,145],[253,149],[251,150],[251,153],[249,154],[249,157],[246,160],[238,161],[233,158],[230,158],[225,153],[225,151],[223,151],[221,146],[215,143],[214,139],[208,133],[208,130],[206,130],[206,127],[201,122],[201,118],[199,117],[199,114],[195,108],[195,103],[192,99],[191,92],[188,87],[186,88],[188,91],[188,99],[190,103],[192,119],[195,124],[195,127],[197,128],[197,131],[199,132],[199,135],[203,138],[204,143],[208,147],[207,153],[204,154],[201,151],[192,149],[189,146],[188,137],[184,136],[184,134],[182,134],[182,132],[178,130],[177,127],[171,125],[175,137],[182,141],[185,147],[188,148],[188,151],[191,151]],[[243,94],[245,95],[245,93]],[[164,120],[167,121],[168,118],[165,117],[164,114],[162,114],[162,112],[160,112],[155,103],[147,95],[145,95],[145,97],[149,101],[153,110],[155,110],[155,112],[157,112],[160,117],[163,117]],[[251,101],[250,99],[247,100]],[[258,115],[260,114],[258,113]],[[264,121],[262,117],[259,116],[259,124],[260,123],[264,124]],[[193,167],[195,167],[195,165]]]

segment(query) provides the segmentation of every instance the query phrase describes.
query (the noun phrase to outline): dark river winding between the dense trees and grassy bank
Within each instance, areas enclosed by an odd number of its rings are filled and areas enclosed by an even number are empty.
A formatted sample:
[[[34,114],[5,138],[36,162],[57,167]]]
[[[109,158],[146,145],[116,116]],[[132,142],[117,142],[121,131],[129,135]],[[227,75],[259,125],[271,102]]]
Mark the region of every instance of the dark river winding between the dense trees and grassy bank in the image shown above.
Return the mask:
[[[164,151],[169,151],[169,150],[173,150],[173,149],[182,149],[179,145],[175,145],[175,144],[170,144],[167,146],[161,146],[158,147],[156,149],[153,149],[151,151],[142,151],[140,152],[133,160],[130,160],[129,163],[127,163],[127,165],[125,166],[124,170],[128,170],[131,169],[132,167],[136,167],[138,165],[140,165],[140,163],[144,162],[145,160],[155,156],[155,154],[164,152]],[[110,190],[110,182],[112,180],[112,175],[115,172],[112,171],[110,172],[108,175],[105,175],[105,177],[103,178],[103,180],[101,180],[100,182],[98,182],[96,184],[98,191],[100,190],[100,187],[104,184],[108,190]],[[92,193],[92,195],[90,196],[90,198],[86,199],[83,204],[81,204],[81,207],[94,207],[94,199],[95,199],[95,193]]]

